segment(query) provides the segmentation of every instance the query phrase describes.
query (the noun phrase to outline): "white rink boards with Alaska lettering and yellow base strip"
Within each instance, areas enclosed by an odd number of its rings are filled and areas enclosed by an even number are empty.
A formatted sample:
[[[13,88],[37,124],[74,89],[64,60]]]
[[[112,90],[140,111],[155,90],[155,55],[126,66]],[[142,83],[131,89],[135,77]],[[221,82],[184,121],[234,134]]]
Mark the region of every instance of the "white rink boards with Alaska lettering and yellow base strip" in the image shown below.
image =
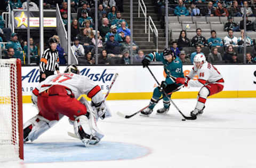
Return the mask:
[[[184,74],[188,74],[193,65],[183,65]],[[225,80],[225,87],[212,98],[256,97],[256,65],[215,65]],[[66,66],[60,67],[60,72]],[[150,65],[159,82],[165,79],[163,65]],[[106,93],[118,73],[118,78],[110,91],[108,99],[149,99],[157,86],[154,78],[142,66],[79,66],[82,75],[97,82]],[[196,77],[195,79],[196,80]],[[39,67],[22,67],[22,97],[23,103],[31,103],[31,91],[38,85]],[[199,88],[182,88],[172,95],[172,98],[196,98]]]

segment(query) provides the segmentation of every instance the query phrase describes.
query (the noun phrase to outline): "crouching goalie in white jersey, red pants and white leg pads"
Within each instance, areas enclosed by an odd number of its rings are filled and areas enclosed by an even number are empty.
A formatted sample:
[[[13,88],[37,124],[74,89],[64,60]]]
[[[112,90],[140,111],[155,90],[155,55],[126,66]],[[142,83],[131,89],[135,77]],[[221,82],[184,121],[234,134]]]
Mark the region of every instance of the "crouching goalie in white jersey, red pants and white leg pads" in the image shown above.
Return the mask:
[[[38,89],[37,89],[38,88]],[[79,75],[76,65],[68,65],[65,73],[50,75],[33,90],[32,100],[39,114],[23,125],[24,141],[35,140],[57,123],[63,115],[69,117],[75,134],[85,146],[97,144],[103,137],[98,130],[98,117],[110,114],[98,85],[89,78]],[[92,99],[91,105],[81,95]]]

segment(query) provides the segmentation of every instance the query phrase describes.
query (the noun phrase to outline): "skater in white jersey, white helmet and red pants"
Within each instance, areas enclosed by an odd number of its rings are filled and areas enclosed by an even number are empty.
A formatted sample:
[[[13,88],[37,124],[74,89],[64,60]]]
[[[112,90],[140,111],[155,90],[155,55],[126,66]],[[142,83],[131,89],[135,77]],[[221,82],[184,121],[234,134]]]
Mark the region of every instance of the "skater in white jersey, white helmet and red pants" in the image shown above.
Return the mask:
[[[198,80],[190,80],[196,74],[198,75]],[[219,93],[224,87],[222,75],[212,64],[206,61],[203,54],[197,54],[194,57],[194,66],[188,76],[177,78],[176,83],[182,83],[190,87],[201,87],[197,96],[195,110],[190,113],[191,116],[202,114],[206,98]]]

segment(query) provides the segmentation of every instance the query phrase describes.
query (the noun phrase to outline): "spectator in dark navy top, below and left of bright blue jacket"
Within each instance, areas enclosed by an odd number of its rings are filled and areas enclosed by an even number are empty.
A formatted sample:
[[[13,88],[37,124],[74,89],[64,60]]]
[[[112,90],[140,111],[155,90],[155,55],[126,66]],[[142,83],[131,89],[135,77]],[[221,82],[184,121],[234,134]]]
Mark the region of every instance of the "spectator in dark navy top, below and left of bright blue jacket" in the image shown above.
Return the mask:
[[[120,47],[118,41],[115,40],[115,35],[110,33],[109,39],[106,44],[108,56],[115,57],[120,54]],[[121,55],[122,56],[122,55]]]

